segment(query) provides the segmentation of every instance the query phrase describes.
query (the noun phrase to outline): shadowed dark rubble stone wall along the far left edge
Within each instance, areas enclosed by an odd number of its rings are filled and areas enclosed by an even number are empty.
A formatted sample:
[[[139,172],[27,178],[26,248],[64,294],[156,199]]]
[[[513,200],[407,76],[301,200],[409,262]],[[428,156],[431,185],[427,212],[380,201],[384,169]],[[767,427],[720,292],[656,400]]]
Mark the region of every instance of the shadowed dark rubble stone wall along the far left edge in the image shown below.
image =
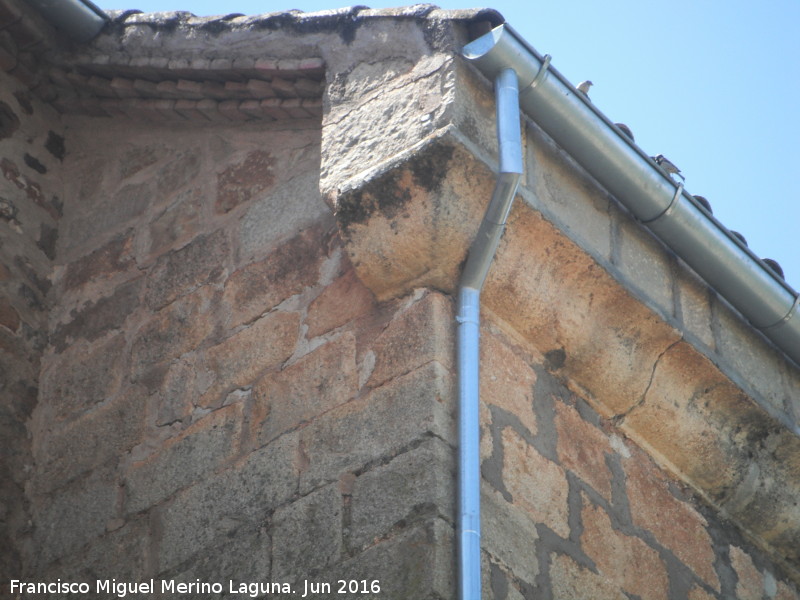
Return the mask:
[[[26,422],[46,340],[63,158],[58,115],[0,73],[0,582],[19,572],[30,532]]]

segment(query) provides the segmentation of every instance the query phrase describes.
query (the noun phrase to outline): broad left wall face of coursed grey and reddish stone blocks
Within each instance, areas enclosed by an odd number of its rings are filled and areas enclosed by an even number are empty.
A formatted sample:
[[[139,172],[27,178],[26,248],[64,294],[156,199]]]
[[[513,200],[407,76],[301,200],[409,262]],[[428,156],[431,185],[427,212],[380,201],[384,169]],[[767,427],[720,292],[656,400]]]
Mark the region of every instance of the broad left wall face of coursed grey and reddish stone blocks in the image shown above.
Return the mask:
[[[166,129],[69,123],[26,576],[449,596],[450,300],[362,286],[318,124]]]

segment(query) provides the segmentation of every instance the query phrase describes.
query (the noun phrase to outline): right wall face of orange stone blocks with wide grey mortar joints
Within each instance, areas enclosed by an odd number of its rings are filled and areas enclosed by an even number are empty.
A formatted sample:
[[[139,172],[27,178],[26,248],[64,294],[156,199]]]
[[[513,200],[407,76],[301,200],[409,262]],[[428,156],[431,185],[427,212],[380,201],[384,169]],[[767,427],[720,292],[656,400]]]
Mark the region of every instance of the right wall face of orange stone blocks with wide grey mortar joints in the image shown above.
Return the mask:
[[[769,556],[560,380],[482,336],[485,597],[797,598]]]

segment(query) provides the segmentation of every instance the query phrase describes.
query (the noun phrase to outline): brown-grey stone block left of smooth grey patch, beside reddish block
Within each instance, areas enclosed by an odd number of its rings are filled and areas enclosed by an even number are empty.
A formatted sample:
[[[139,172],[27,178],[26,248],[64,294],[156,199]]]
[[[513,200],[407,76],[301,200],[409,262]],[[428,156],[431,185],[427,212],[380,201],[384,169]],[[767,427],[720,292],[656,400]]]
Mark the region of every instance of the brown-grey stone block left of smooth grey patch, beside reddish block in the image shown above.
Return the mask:
[[[163,255],[147,274],[147,305],[159,310],[203,284],[217,282],[228,263],[229,253],[227,235],[219,229]]]

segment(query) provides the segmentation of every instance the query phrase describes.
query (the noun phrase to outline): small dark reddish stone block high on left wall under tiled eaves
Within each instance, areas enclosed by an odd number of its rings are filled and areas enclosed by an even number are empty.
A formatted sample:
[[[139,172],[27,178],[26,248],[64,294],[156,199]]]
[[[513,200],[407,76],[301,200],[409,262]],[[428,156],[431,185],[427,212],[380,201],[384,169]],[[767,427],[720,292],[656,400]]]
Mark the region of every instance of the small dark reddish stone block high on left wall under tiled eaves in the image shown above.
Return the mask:
[[[241,162],[217,174],[214,210],[226,213],[253,198],[265,196],[275,184],[275,157],[267,150],[254,150]]]

